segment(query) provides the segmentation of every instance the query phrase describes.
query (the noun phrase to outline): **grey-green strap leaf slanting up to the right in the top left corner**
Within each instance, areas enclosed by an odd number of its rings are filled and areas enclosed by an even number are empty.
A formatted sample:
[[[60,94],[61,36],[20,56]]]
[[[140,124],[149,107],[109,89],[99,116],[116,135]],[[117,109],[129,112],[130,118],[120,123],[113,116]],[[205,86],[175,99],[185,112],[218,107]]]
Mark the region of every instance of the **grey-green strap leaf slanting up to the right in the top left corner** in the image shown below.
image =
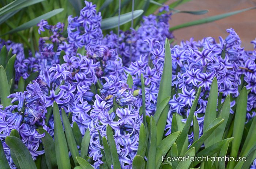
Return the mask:
[[[57,15],[58,13],[62,12],[63,10],[64,10],[63,8],[54,9],[54,10],[47,12],[41,16],[38,16],[35,19],[32,19],[22,25],[19,25],[18,27],[12,29],[11,31],[4,33],[3,35],[12,34],[14,32],[26,30],[27,28],[33,27],[34,25],[38,24],[42,19],[48,19],[54,15]],[[0,36],[3,36],[3,35],[0,35]]]

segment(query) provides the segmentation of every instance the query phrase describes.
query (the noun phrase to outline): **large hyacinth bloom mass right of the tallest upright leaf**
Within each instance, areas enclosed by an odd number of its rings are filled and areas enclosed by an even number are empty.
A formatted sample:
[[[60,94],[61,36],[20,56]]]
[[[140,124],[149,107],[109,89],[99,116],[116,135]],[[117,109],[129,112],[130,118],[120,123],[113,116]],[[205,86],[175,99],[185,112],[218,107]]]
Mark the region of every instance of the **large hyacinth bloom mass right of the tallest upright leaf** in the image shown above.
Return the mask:
[[[204,112],[214,77],[218,81],[219,98],[224,102],[227,95],[231,97],[230,113],[239,94],[239,86],[245,85],[251,92],[248,95],[247,120],[255,116],[255,58],[256,51],[245,51],[236,32],[227,29],[229,35],[219,43],[214,38],[204,38],[202,41],[181,42],[172,48],[173,88],[175,93],[170,100],[170,111],[166,125],[166,135],[171,133],[172,114],[178,113],[188,117],[196,89],[202,87],[195,116],[199,122],[200,136],[203,134]],[[244,77],[244,78],[242,78]],[[242,81],[241,79],[244,79]],[[186,119],[182,120],[183,122]],[[193,133],[189,135],[193,142]]]

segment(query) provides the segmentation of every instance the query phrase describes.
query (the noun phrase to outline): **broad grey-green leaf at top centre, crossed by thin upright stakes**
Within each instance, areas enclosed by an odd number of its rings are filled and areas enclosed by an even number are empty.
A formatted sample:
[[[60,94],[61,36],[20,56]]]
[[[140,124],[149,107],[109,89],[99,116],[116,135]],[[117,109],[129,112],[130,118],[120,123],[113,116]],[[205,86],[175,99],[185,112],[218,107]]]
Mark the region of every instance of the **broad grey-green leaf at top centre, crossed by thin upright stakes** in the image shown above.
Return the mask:
[[[133,19],[139,17],[140,15],[142,15],[142,13],[143,13],[143,10],[141,9],[133,11]],[[128,23],[131,20],[132,20],[132,12],[128,12],[120,15],[120,25]],[[102,19],[101,21],[102,30],[115,28],[117,27],[117,25],[118,25],[118,16]]]

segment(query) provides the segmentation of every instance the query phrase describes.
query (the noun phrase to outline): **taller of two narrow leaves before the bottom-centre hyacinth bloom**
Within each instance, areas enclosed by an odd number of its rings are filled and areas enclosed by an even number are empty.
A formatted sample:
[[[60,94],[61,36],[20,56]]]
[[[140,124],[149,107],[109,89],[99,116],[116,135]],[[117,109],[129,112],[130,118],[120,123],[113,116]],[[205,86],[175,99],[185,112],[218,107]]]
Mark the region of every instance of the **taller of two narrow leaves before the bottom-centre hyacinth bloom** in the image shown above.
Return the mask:
[[[107,125],[107,138],[109,142],[109,148],[114,169],[121,169],[120,161],[116,150],[116,142],[114,140],[112,128],[109,125]]]

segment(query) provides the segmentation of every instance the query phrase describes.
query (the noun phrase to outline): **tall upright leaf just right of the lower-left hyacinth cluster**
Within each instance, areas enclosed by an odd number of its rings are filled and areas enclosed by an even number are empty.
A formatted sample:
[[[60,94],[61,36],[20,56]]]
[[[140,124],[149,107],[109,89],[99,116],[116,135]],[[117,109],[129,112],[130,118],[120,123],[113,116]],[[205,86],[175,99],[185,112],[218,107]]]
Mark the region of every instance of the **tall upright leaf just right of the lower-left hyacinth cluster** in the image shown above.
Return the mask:
[[[63,131],[62,122],[60,119],[60,111],[56,102],[53,103],[53,118],[54,118],[54,146],[57,158],[58,168],[70,169],[70,161],[68,155],[68,145]]]

